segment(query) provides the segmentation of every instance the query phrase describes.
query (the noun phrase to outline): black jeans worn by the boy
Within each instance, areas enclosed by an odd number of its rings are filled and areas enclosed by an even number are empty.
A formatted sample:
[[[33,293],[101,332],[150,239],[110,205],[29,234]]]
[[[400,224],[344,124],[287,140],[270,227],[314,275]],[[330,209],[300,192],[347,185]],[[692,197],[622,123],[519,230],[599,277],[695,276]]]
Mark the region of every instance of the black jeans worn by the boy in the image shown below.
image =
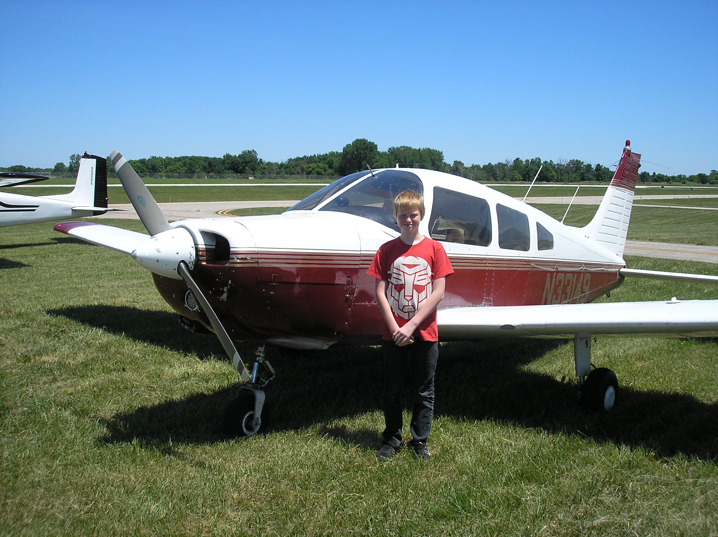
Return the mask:
[[[384,354],[383,404],[386,429],[382,433],[384,444],[398,447],[401,444],[401,391],[404,388],[404,370],[411,362],[414,370],[414,407],[411,411],[412,444],[426,444],[434,416],[434,371],[437,369],[439,344],[435,341],[416,340],[399,347],[393,341],[381,345]]]

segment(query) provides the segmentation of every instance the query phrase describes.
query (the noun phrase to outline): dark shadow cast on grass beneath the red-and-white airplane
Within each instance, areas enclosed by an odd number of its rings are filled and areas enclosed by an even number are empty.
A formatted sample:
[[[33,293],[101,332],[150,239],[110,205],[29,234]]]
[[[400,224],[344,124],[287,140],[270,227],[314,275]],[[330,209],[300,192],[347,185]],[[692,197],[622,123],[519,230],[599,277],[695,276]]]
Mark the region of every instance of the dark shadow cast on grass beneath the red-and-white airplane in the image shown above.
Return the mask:
[[[224,356],[215,337],[182,334],[185,331],[176,316],[166,312],[91,306],[48,313],[172,350],[196,352],[200,357]],[[658,457],[718,457],[718,403],[707,404],[682,393],[622,388],[612,412],[591,413],[577,405],[575,383],[523,369],[560,345],[571,342],[485,340],[442,345],[436,377],[437,416],[576,434],[596,442],[641,447]],[[251,360],[251,345],[238,350],[245,361]],[[267,358],[277,377],[266,390],[266,432],[319,424],[320,434],[337,441],[364,449],[378,447],[382,419],[377,420],[376,431],[350,430],[334,422],[380,409],[381,348],[292,351],[268,347]],[[169,451],[177,443],[223,442],[223,410],[236,396],[238,386],[117,414],[106,421],[107,434],[100,441],[140,441]],[[408,391],[404,399],[409,402]]]

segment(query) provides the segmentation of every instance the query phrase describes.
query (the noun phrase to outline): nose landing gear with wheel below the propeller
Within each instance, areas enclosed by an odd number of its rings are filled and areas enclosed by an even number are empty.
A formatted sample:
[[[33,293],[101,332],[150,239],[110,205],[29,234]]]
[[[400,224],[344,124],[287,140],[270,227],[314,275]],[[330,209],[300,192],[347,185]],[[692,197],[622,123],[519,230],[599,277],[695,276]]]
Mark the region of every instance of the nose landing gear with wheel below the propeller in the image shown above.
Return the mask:
[[[244,364],[235,365],[241,374]],[[254,364],[248,382],[239,387],[237,397],[225,410],[224,429],[231,436],[251,436],[262,426],[264,386],[274,378],[274,368],[264,358],[264,345],[254,351]]]

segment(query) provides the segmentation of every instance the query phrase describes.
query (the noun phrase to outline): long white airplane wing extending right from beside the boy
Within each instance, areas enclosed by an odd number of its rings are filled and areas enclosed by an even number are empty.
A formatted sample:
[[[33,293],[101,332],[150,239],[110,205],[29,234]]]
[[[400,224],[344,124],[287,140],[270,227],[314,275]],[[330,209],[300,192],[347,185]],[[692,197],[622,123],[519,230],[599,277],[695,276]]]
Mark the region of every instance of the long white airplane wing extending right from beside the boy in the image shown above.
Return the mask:
[[[439,336],[623,337],[718,336],[718,300],[609,302],[544,306],[448,307],[437,312]]]

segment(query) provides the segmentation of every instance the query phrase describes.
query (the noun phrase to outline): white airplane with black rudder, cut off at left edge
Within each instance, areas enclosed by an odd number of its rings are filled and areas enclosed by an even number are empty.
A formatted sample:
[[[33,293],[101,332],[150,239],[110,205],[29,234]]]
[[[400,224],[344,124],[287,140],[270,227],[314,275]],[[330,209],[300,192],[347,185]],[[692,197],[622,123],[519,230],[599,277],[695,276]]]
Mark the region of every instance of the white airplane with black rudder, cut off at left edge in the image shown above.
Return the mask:
[[[43,175],[6,174],[0,178],[0,187],[44,179],[47,177]],[[78,178],[70,194],[24,196],[0,192],[0,227],[96,216],[108,210],[113,209],[107,207],[107,159],[87,153],[80,159]]]

